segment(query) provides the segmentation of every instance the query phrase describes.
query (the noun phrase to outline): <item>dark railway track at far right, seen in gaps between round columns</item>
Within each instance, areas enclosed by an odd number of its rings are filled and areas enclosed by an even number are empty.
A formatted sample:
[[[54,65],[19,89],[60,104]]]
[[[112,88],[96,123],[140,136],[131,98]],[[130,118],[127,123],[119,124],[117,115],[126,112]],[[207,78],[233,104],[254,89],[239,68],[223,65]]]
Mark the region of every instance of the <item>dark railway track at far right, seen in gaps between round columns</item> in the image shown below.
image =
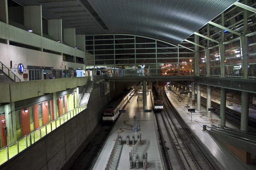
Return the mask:
[[[206,99],[201,96],[201,105],[206,108]],[[211,105],[216,109],[213,113],[217,116],[220,116],[220,105],[216,102],[211,102]],[[233,111],[230,108],[226,108],[226,119],[232,125],[239,127],[241,125],[241,113],[237,111]],[[256,133],[256,121],[252,119],[248,119],[248,131],[252,133]]]

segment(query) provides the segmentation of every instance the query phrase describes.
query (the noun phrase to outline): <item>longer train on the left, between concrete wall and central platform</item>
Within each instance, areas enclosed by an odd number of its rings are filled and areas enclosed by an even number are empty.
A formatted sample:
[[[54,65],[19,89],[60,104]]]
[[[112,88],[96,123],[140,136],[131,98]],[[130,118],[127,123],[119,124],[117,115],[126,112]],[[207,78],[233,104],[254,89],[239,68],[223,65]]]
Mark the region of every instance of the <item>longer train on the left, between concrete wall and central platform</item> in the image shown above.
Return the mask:
[[[117,99],[113,100],[107,108],[103,111],[102,120],[104,122],[115,122],[119,116],[119,110],[126,105],[126,103],[131,99],[134,94],[134,89],[129,88],[128,91],[125,91],[125,94],[122,94]]]

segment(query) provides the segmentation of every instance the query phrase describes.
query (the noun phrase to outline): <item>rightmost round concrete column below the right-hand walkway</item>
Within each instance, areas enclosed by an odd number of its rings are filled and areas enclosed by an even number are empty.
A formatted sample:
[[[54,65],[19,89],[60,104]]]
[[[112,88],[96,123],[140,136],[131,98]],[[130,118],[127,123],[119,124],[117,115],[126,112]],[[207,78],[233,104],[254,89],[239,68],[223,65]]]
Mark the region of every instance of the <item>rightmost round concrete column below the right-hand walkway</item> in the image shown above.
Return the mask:
[[[241,92],[241,130],[248,131],[249,93]]]

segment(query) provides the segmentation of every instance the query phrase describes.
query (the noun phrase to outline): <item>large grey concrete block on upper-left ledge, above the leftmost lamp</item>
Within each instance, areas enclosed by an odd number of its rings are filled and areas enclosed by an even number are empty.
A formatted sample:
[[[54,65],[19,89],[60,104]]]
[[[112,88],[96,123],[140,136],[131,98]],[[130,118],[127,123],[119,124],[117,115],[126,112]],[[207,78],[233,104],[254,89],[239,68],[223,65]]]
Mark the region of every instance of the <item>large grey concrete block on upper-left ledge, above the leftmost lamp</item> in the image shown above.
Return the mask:
[[[33,33],[43,35],[42,6],[24,6],[24,26]]]

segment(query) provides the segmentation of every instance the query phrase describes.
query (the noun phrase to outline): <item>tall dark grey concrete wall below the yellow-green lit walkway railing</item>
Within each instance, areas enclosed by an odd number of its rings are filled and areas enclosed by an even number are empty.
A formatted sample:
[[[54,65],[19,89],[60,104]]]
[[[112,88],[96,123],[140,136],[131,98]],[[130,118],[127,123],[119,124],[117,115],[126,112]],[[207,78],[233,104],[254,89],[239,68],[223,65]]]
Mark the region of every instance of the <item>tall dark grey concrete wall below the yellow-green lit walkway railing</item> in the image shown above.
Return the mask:
[[[99,124],[108,96],[100,97],[96,87],[88,108],[0,166],[1,170],[59,170]]]

